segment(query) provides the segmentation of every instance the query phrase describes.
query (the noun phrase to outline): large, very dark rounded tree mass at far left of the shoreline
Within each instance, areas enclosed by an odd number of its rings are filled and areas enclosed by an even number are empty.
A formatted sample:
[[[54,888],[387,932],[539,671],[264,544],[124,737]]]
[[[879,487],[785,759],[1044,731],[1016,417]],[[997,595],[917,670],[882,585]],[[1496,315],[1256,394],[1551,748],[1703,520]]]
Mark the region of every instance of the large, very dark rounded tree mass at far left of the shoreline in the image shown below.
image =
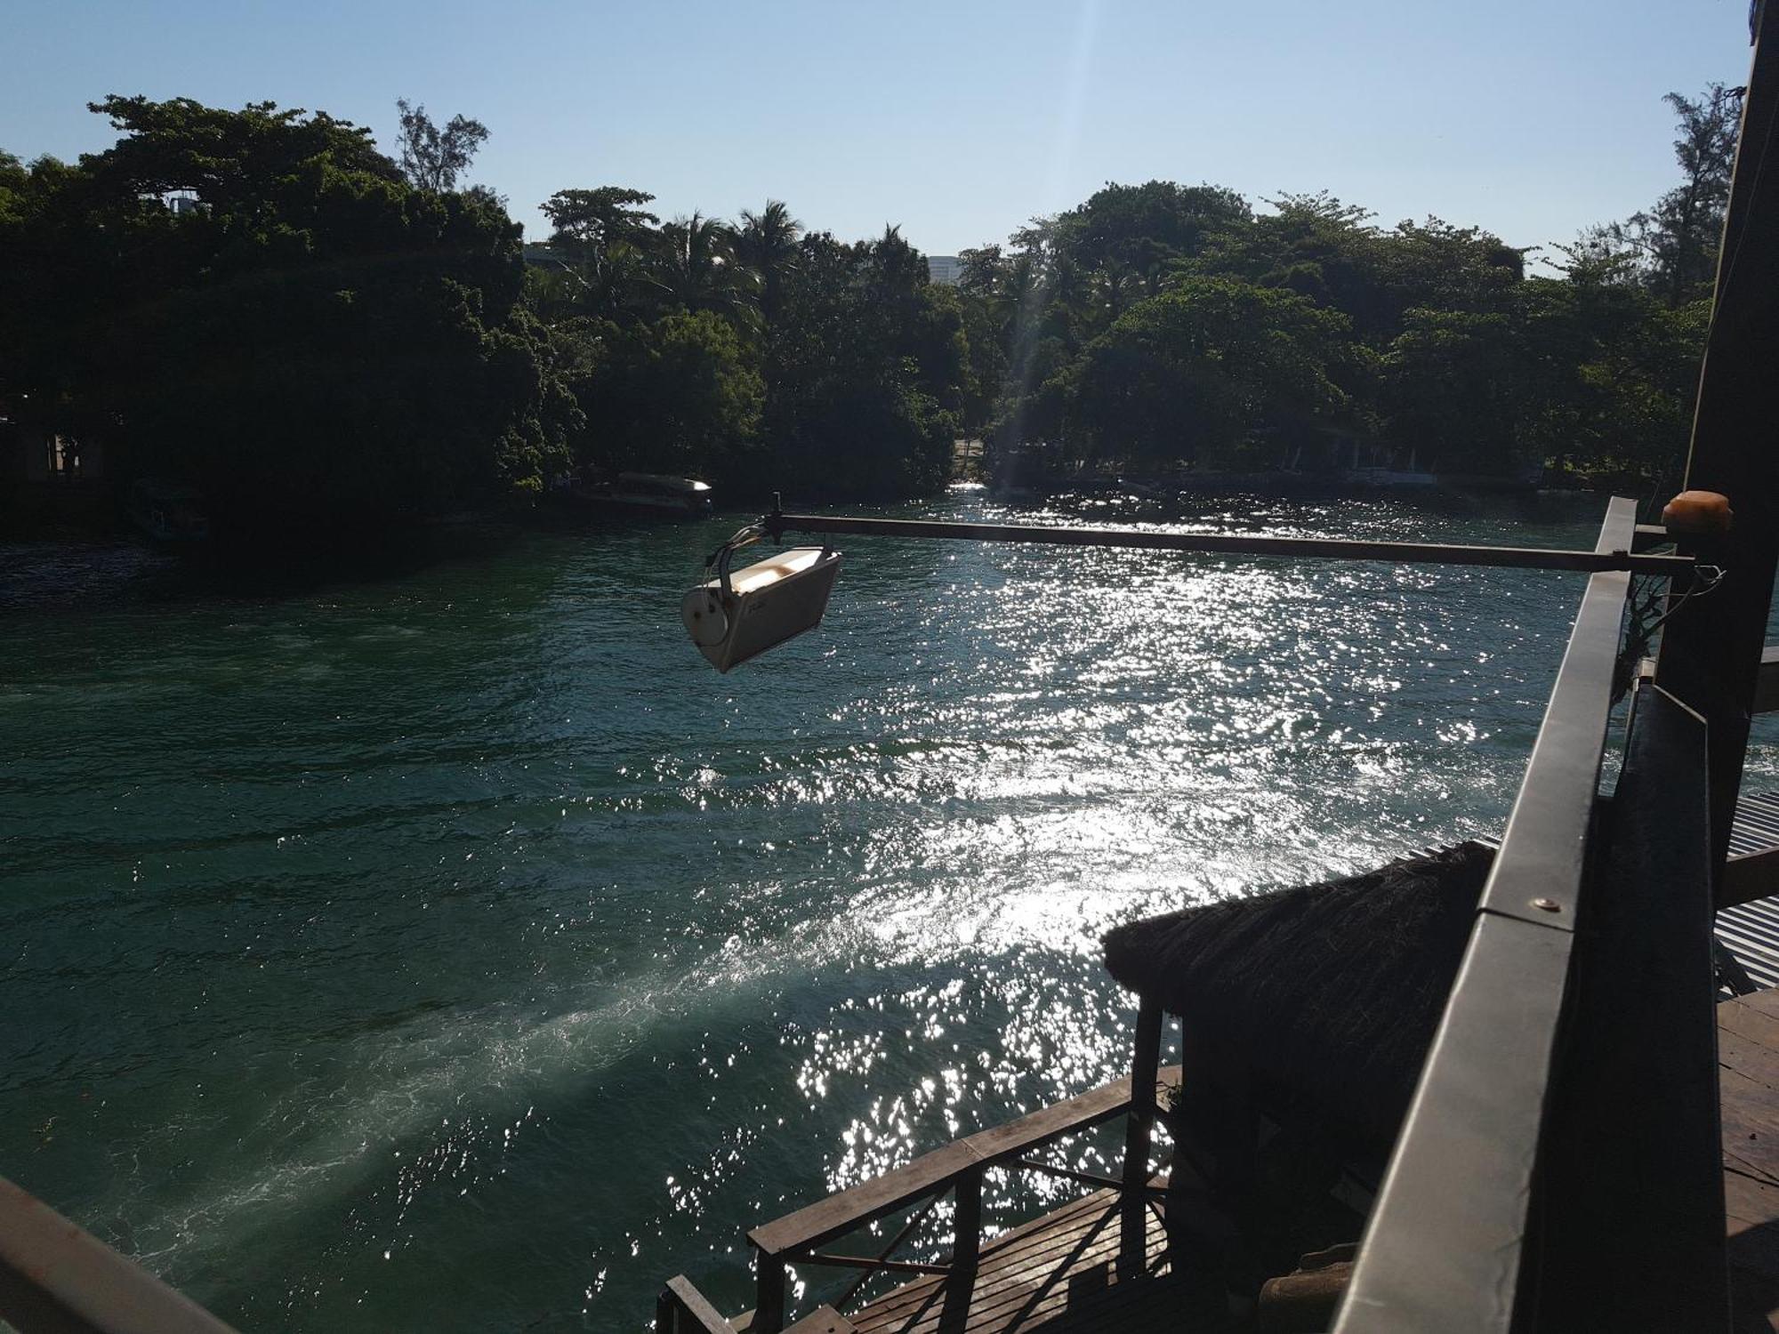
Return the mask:
[[[415,190],[326,114],[94,110],[117,144],[36,164],[0,238],[0,365],[34,427],[199,484],[224,532],[486,503],[562,466],[575,404],[503,213]]]

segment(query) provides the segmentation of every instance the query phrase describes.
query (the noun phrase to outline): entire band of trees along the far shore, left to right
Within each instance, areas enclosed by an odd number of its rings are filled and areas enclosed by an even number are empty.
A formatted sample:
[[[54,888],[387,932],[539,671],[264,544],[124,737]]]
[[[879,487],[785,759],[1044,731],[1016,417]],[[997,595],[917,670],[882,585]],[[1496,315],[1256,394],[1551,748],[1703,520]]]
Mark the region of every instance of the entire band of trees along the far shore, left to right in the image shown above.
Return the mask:
[[[1738,116],[1720,85],[1667,101],[1674,190],[1548,251],[1108,183],[941,285],[893,226],[664,221],[612,185],[553,194],[525,245],[459,185],[489,132],[406,101],[388,157],[326,112],[110,96],[114,148],[0,151],[0,505],[30,514],[44,441],[197,487],[231,548],[525,510],[584,471],[909,500],[966,439],[966,475],[1032,491],[1651,489],[1685,454]]]

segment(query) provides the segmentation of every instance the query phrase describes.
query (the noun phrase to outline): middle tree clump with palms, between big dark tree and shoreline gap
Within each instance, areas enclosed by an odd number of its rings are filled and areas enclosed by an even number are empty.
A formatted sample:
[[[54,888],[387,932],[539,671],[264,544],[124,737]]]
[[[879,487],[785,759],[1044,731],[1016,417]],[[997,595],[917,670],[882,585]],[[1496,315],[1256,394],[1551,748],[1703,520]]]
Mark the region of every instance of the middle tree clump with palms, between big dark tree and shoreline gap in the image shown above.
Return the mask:
[[[941,487],[970,381],[962,302],[895,228],[804,231],[783,203],[662,222],[640,190],[544,203],[532,304],[585,413],[576,457],[729,494]]]

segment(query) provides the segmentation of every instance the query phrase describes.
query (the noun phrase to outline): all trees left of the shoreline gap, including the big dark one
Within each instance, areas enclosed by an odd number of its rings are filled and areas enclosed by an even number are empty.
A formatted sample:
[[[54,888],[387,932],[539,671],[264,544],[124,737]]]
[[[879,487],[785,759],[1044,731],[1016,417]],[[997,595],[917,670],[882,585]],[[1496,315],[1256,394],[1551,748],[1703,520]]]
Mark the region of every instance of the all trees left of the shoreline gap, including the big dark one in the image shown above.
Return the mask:
[[[270,103],[107,98],[119,142],[0,157],[0,418],[201,487],[228,526],[372,528],[543,496],[576,470],[754,498],[945,484],[962,311],[893,228],[779,203],[662,222],[562,190],[546,254],[486,187],[486,130],[370,132]],[[121,462],[119,462],[121,461]]]

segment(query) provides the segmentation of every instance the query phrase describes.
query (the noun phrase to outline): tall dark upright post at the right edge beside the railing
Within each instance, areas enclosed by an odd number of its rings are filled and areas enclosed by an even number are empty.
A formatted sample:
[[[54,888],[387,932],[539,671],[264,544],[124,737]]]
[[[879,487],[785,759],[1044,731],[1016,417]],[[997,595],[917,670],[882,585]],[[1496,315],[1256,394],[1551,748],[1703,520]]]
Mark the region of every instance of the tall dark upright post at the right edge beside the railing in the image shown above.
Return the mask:
[[[1749,717],[1779,567],[1779,9],[1763,4],[1742,137],[1729,189],[1717,295],[1706,336],[1686,487],[1720,491],[1733,530],[1695,555],[1727,573],[1710,598],[1679,610],[1662,639],[1656,681],[1710,724],[1711,873],[1722,888]],[[1770,165],[1772,171],[1763,167]]]

